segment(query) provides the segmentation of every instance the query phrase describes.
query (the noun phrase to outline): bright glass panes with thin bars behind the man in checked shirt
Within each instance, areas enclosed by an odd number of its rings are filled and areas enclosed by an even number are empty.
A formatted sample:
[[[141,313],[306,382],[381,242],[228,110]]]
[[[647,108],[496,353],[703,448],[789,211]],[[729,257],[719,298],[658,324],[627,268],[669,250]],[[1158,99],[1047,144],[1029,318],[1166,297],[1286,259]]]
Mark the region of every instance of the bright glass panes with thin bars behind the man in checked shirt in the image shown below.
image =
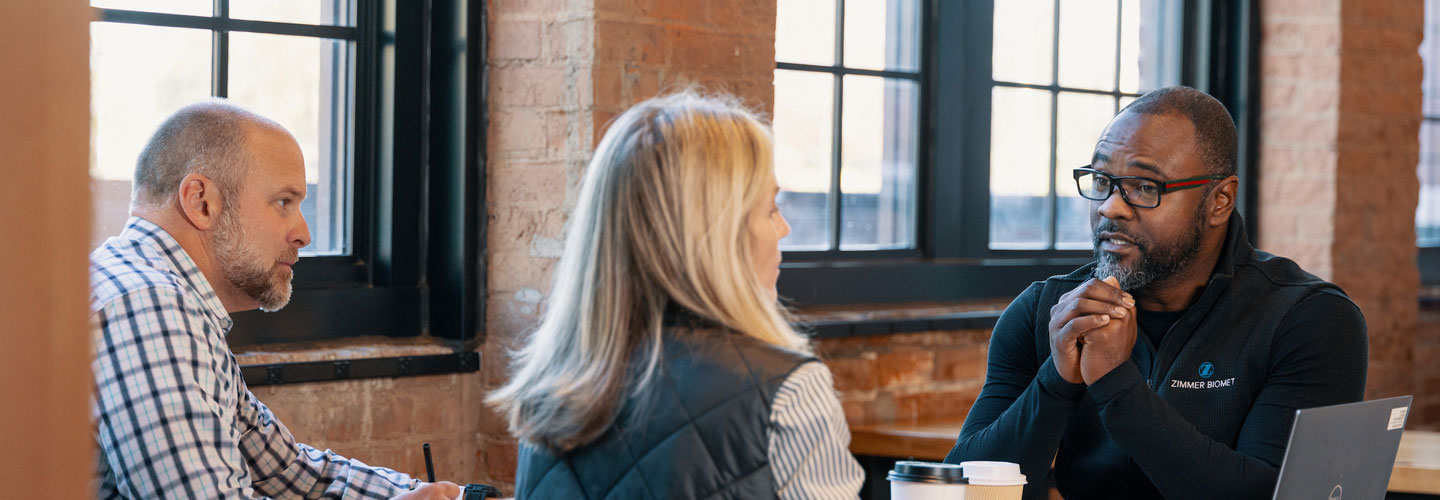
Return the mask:
[[[275,120],[305,157],[305,256],[348,255],[354,131],[354,0],[94,0],[91,97],[96,193],[92,244],[127,219],[135,159],[174,110],[225,97]],[[141,10],[122,10],[125,7]],[[157,56],[166,55],[166,56]]]

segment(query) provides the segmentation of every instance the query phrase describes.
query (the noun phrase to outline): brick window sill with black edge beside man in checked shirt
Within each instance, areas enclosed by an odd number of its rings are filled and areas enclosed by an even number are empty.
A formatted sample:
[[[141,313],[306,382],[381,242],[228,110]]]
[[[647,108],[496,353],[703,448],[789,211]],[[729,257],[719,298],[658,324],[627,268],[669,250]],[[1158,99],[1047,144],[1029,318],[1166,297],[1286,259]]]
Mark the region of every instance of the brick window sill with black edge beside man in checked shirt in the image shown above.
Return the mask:
[[[249,386],[402,378],[480,370],[480,353],[435,337],[351,337],[240,346],[235,352]]]

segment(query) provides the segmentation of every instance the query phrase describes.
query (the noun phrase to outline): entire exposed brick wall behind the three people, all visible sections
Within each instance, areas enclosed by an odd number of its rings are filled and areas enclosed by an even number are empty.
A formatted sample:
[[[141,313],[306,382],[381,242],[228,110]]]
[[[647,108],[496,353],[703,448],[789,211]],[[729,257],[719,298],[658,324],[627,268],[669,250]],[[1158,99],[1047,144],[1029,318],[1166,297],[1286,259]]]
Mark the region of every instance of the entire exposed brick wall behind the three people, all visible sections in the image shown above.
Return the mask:
[[[539,320],[593,144],[615,114],[685,85],[736,92],[769,112],[775,0],[488,6],[484,370],[256,393],[307,442],[418,473],[418,444],[429,439],[441,476],[511,493],[516,444],[480,401],[505,380],[505,352]],[[1261,6],[1260,246],[1356,298],[1371,324],[1372,395],[1434,386],[1416,383],[1440,380],[1440,367],[1411,357],[1440,353],[1440,327],[1416,329],[1420,1]],[[988,339],[986,330],[927,331],[818,347],[854,422],[960,418],[984,382]],[[1437,414],[1437,399],[1420,395],[1417,421]],[[461,418],[432,419],[446,405]]]

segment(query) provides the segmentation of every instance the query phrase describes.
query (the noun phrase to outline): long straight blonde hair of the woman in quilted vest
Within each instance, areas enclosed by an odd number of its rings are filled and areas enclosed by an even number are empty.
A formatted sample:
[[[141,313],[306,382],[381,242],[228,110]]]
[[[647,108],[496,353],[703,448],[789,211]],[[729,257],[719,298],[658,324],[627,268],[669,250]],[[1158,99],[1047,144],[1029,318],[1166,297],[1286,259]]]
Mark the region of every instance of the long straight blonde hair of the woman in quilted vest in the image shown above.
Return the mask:
[[[667,304],[808,352],[750,264],[746,215],[773,196],[768,176],[769,128],[733,98],[621,114],[585,171],[544,318],[487,398],[510,432],[562,452],[600,437],[629,382],[635,395],[652,380]]]

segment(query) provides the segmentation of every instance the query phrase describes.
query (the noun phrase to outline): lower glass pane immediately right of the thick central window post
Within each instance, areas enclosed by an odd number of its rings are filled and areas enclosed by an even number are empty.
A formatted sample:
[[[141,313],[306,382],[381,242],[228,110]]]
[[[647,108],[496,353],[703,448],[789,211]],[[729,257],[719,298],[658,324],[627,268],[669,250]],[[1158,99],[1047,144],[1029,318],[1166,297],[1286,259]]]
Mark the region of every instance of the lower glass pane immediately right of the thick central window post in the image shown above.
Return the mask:
[[[996,86],[991,104],[991,248],[1050,246],[1050,92]]]

